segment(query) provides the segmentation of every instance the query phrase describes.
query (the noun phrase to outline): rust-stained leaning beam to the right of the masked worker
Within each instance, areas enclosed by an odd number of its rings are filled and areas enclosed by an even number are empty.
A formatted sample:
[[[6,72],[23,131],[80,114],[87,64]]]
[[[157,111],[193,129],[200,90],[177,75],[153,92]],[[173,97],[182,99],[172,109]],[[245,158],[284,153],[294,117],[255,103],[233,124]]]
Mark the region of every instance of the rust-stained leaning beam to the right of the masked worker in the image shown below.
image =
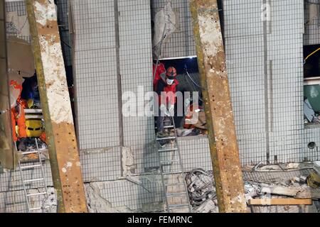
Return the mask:
[[[246,212],[216,0],[191,1],[193,30],[220,212]]]

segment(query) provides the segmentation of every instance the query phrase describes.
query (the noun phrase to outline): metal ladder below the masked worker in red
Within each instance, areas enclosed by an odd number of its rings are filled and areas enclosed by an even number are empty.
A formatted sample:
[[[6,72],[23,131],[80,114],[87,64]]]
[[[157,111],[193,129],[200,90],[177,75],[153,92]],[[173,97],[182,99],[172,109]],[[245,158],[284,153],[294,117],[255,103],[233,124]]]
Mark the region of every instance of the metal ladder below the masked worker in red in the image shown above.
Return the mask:
[[[186,210],[191,213],[191,204],[189,201],[188,190],[186,187],[186,175],[184,173],[181,154],[178,147],[178,140],[176,135],[176,126],[174,124],[174,117],[171,116],[171,121],[164,121],[164,129],[174,129],[174,135],[169,135],[164,138],[156,138],[157,144],[157,155],[159,160],[159,170],[161,172],[161,181],[164,189],[164,197],[166,199],[166,210],[171,213],[174,211],[181,212],[181,209]],[[169,123],[166,126],[165,123]],[[171,148],[163,148],[161,146],[161,141],[171,142]],[[164,157],[165,156],[165,157]],[[169,157],[169,159],[168,159]],[[175,159],[176,158],[176,159]],[[173,179],[173,182],[169,182]],[[178,182],[174,182],[174,177],[178,177]],[[181,181],[179,181],[179,177]],[[169,187],[182,189],[183,192],[170,192]],[[179,201],[171,204],[170,201]],[[180,211],[179,211],[180,210]]]

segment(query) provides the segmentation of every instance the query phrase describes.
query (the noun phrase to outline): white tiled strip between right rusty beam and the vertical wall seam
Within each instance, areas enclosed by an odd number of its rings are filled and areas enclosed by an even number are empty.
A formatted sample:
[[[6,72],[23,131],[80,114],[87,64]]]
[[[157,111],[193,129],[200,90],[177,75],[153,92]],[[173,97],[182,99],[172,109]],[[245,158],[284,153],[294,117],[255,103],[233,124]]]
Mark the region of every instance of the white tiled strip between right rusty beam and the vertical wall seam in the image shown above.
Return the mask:
[[[267,104],[262,0],[223,1],[225,57],[243,165],[266,160]]]

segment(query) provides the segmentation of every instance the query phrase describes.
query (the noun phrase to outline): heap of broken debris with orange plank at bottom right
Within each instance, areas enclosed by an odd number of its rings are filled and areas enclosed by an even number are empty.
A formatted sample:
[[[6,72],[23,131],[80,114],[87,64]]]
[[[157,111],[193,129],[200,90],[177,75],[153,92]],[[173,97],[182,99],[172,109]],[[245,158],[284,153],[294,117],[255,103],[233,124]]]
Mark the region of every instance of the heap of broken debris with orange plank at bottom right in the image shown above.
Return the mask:
[[[296,169],[294,169],[294,167]],[[290,204],[277,205],[277,202],[270,204],[252,204],[255,206],[252,212],[317,212],[316,205],[319,206],[320,199],[320,175],[310,165],[256,165],[250,172],[244,172],[245,197],[248,201],[259,199],[269,199],[269,201],[288,201]],[[281,170],[280,170],[281,169]],[[248,169],[247,169],[248,170]],[[278,199],[278,200],[277,200]],[[299,202],[302,199],[317,201],[311,205],[306,205],[302,209]],[[281,204],[281,203],[278,203]],[[270,206],[269,209],[262,209],[262,206]],[[261,209],[257,209],[261,206]]]

